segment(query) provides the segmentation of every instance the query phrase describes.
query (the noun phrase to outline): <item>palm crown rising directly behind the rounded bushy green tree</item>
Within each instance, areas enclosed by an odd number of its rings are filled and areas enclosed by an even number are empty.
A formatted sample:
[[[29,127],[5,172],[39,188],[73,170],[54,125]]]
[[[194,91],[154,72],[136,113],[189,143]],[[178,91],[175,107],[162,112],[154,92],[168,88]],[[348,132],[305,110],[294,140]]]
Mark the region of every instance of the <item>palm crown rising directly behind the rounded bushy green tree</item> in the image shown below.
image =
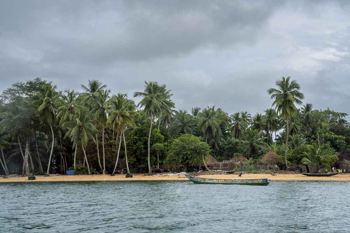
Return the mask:
[[[170,126],[170,132],[173,135],[179,133],[193,133],[196,129],[196,123],[191,115],[186,110],[180,110],[174,117],[174,122]]]

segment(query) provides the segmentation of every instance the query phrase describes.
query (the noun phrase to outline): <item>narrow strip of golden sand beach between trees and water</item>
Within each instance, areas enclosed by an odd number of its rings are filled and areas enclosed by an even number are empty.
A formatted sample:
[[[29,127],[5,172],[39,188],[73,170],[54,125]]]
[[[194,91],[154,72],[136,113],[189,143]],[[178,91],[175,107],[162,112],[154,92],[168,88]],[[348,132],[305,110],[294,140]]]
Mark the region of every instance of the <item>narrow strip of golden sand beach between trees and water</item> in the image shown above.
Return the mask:
[[[243,174],[240,178],[236,174],[226,175],[198,175],[198,177],[211,179],[258,179],[267,178],[271,181],[350,181],[350,174],[338,174],[328,177],[312,177],[301,174]],[[16,182],[80,182],[80,181],[189,181],[186,176],[145,176],[144,174],[133,174],[132,178],[126,178],[125,174],[110,175],[50,175],[36,176],[36,180],[28,180],[28,177],[0,178],[0,183]]]

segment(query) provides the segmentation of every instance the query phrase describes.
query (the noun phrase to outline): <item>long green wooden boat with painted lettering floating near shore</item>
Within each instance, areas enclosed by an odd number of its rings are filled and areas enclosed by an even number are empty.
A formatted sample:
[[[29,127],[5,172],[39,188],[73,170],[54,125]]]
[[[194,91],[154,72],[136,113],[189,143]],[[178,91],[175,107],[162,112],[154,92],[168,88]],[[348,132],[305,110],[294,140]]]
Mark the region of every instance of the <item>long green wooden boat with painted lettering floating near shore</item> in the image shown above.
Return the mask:
[[[210,179],[210,178],[201,178],[197,176],[191,176],[189,174],[185,175],[190,181],[192,181],[195,184],[241,184],[241,185],[268,185],[271,180],[268,180],[267,178],[262,179]]]

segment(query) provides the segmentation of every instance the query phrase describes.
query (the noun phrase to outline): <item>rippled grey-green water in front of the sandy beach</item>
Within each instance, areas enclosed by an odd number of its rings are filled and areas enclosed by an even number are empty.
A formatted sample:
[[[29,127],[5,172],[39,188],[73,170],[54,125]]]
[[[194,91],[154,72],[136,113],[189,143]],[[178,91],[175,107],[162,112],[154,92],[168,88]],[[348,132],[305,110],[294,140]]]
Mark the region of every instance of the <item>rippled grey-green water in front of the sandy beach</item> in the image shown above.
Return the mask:
[[[350,232],[350,183],[0,184],[0,232]]]

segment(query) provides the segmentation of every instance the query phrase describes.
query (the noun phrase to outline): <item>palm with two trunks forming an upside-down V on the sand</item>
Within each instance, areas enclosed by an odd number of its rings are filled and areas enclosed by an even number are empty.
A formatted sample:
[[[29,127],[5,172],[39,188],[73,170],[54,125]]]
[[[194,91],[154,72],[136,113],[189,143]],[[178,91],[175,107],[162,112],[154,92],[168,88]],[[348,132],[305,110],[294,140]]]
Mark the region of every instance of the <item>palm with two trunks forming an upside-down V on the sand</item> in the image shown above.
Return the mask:
[[[127,126],[131,126],[134,124],[133,118],[135,116],[135,102],[131,99],[127,98],[127,94],[118,94],[111,99],[111,107],[110,107],[110,117],[109,122],[113,125],[113,128],[117,130],[118,134],[120,133],[120,141],[119,141],[119,149],[117,154],[116,166],[114,167],[114,171],[117,167],[117,162],[119,159],[119,150],[121,143],[121,136],[123,136],[124,140],[124,148],[125,148],[125,162],[127,173],[130,173],[129,165],[128,165],[128,157],[126,151],[126,140],[125,140],[125,130]],[[117,136],[118,138],[118,136]]]

